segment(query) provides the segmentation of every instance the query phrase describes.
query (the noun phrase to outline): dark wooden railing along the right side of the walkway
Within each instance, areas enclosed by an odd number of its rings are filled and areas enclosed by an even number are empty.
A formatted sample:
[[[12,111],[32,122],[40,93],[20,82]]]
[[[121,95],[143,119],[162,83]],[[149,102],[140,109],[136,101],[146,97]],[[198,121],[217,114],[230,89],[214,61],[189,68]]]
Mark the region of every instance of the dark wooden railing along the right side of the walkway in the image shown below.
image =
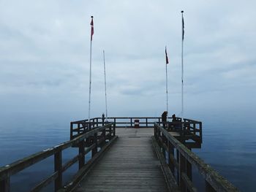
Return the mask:
[[[154,139],[181,191],[197,191],[192,182],[192,166],[205,180],[206,191],[238,191],[211,166],[170,135],[165,128],[159,126],[159,123],[154,123]]]

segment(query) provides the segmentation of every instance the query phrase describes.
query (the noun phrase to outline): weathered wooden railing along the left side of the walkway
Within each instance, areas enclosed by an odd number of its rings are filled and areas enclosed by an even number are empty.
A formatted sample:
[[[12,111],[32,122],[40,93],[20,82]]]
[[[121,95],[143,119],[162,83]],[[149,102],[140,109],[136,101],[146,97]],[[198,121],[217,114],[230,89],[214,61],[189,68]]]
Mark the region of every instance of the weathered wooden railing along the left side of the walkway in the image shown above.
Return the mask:
[[[54,181],[54,191],[70,191],[80,180],[80,177],[88,171],[89,166],[94,164],[94,161],[99,158],[100,155],[111,145],[111,143],[116,139],[116,128],[114,123],[108,123],[104,126],[94,127],[93,129],[87,131],[85,134],[80,134],[75,139],[56,145],[55,147],[48,148],[39,153],[30,155],[29,157],[23,158],[19,161],[15,161],[12,164],[3,166],[0,168],[0,191],[9,192],[10,191],[10,177],[13,174],[26,169],[29,166],[37,164],[38,162],[54,156],[54,172],[49,177],[42,180],[41,183],[36,185],[31,191],[39,191],[46,185]],[[66,164],[62,164],[62,152],[63,150],[77,146],[79,147],[78,155],[68,161]],[[100,150],[99,150],[100,148]],[[91,159],[85,161],[85,155],[91,152]],[[75,174],[75,177],[67,185],[62,183],[62,174],[70,166],[78,161],[79,171]]]

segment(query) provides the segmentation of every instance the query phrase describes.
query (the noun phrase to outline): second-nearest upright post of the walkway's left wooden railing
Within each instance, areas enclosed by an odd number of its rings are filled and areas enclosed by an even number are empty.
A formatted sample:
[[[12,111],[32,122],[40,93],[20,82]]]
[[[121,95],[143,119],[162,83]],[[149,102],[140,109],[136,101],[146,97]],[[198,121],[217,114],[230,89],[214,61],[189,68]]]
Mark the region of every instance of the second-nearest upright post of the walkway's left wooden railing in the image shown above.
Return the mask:
[[[62,157],[61,150],[54,154],[54,172],[58,172],[58,177],[54,181],[54,191],[58,191],[62,186]]]

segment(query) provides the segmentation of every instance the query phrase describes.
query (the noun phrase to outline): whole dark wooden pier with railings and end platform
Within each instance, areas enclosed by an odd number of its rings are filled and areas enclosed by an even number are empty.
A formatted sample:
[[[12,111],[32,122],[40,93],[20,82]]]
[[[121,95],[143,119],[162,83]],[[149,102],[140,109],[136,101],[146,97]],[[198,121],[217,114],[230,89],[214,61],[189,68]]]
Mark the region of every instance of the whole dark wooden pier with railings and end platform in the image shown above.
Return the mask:
[[[194,169],[204,180],[205,191],[238,191],[192,153],[201,147],[202,138],[202,123],[197,120],[103,117],[74,121],[69,141],[1,167],[0,191],[10,191],[13,174],[50,156],[54,172],[31,191],[41,191],[50,183],[59,192],[197,191]],[[62,155],[69,147],[78,148],[78,154],[63,163]],[[63,173],[77,162],[78,172],[64,183]]]

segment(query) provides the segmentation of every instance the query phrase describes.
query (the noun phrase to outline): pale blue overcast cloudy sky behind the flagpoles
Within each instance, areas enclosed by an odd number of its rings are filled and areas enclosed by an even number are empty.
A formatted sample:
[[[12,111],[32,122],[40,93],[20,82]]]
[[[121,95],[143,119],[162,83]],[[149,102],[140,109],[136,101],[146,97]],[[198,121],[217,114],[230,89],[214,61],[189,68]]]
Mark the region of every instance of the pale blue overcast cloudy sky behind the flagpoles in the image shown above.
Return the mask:
[[[184,10],[184,116],[253,118],[256,112],[256,2],[0,0],[0,115],[88,117],[181,115]],[[15,116],[16,115],[16,116]]]

